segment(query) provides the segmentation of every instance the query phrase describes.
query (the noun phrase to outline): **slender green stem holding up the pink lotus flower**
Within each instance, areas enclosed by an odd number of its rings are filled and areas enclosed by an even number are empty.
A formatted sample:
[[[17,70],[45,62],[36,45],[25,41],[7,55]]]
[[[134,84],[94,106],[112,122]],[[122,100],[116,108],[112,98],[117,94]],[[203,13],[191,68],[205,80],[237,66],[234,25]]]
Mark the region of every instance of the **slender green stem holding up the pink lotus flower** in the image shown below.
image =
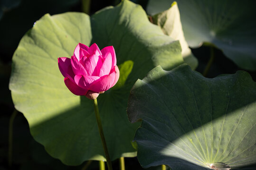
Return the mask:
[[[95,110],[95,115],[96,115],[96,119],[97,119],[97,123],[98,123],[98,127],[99,127],[101,142],[102,142],[104,153],[105,153],[106,160],[107,160],[107,167],[108,167],[108,170],[113,170],[111,160],[110,160],[110,157],[109,157],[109,154],[108,154],[108,151],[107,151],[107,144],[106,144],[104,133],[103,133],[103,128],[102,128],[102,123],[101,123],[101,119],[100,119],[100,113],[99,113],[97,99],[94,99],[94,110]]]

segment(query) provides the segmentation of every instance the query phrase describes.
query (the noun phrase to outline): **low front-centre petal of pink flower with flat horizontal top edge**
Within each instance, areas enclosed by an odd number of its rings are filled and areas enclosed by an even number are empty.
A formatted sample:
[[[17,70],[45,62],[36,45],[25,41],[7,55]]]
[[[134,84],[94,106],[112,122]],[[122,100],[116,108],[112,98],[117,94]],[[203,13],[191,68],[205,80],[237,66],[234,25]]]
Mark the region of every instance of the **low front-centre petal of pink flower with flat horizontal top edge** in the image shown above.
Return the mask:
[[[74,79],[75,79],[76,85],[78,85],[79,87],[88,89],[90,85],[96,80],[98,80],[99,78],[100,78],[99,76],[76,75]]]

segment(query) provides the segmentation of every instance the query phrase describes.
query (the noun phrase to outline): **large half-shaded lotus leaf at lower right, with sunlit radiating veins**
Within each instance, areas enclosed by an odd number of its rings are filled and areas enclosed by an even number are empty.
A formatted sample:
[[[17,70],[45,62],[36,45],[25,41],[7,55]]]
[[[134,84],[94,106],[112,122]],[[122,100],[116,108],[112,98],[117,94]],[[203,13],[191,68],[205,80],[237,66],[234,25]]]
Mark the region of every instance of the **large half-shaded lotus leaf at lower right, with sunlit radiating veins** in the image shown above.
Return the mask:
[[[256,163],[256,83],[247,72],[210,79],[185,64],[156,67],[133,86],[127,113],[131,122],[142,119],[135,135],[142,167],[233,170]]]

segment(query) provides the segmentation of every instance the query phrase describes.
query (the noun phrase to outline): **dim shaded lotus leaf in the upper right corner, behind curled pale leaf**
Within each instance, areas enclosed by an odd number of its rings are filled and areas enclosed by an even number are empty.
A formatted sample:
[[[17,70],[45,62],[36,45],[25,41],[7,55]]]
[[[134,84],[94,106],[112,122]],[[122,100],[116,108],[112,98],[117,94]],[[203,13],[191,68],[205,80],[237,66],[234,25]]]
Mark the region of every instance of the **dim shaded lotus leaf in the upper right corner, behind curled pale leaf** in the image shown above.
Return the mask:
[[[190,47],[210,42],[240,68],[256,70],[255,0],[176,0]],[[173,0],[150,0],[149,14],[171,7]]]

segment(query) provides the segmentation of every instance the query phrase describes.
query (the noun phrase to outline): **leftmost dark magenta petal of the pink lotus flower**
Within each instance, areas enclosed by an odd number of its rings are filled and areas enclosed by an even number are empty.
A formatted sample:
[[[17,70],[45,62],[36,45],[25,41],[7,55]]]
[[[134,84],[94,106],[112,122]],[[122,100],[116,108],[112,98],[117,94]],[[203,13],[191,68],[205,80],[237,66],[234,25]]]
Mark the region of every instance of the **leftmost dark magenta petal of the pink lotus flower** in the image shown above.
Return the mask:
[[[69,78],[72,78],[72,79],[74,78],[75,75],[71,68],[71,60],[69,58],[66,58],[66,57],[58,58],[58,66],[61,74],[64,77],[68,76]]]

